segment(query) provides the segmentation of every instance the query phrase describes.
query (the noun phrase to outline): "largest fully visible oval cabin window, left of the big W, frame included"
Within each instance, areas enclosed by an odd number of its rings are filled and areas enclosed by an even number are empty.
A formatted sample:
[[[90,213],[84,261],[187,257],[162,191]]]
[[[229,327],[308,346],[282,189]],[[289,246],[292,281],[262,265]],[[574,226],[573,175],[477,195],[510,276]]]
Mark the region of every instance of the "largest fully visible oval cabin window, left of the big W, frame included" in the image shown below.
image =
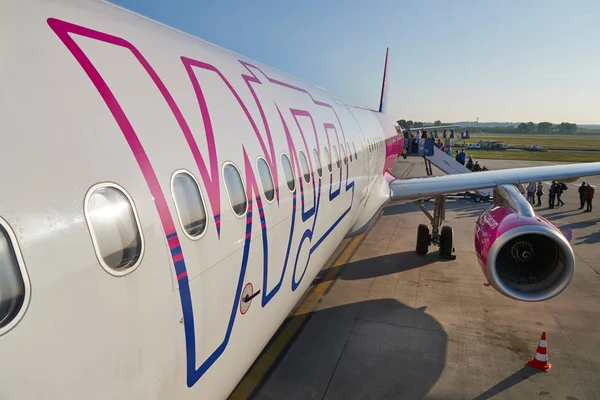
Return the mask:
[[[133,271],[144,251],[133,201],[114,184],[96,185],[86,197],[85,215],[100,264],[112,275]]]

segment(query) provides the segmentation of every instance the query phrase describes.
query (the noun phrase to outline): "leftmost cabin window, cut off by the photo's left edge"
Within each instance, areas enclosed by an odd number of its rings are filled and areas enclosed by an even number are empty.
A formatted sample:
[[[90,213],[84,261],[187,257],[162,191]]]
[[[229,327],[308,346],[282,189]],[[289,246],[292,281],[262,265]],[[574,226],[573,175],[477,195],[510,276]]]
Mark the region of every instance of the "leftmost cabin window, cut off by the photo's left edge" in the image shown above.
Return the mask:
[[[0,334],[8,331],[24,312],[28,285],[16,242],[0,220]],[[6,328],[6,329],[5,329]]]

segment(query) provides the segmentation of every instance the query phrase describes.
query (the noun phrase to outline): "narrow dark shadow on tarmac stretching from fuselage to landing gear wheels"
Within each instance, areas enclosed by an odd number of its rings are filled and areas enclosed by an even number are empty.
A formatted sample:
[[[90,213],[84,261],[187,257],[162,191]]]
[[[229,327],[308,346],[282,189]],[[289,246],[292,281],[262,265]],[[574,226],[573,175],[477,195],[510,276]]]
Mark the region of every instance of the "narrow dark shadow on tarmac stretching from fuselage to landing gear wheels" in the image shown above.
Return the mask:
[[[436,262],[449,261],[451,260],[440,258],[437,255],[437,252],[420,256],[415,253],[414,250],[403,251],[400,253],[385,254],[379,257],[353,261],[348,264],[322,270],[319,275],[317,275],[315,282],[326,282],[338,278],[350,281],[377,278],[379,276],[409,271]]]

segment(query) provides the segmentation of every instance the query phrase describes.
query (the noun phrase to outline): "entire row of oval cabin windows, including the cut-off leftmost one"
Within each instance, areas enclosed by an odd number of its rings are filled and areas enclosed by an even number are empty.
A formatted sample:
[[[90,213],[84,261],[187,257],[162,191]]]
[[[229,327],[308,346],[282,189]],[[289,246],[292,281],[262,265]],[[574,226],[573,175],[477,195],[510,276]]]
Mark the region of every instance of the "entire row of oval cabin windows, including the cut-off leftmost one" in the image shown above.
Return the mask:
[[[341,146],[343,163],[358,160],[354,143]],[[340,154],[332,146],[333,161],[341,168]],[[323,176],[321,157],[313,148],[315,170]],[[327,147],[323,148],[325,164],[331,174],[332,159]],[[310,183],[312,171],[303,151],[298,152],[301,175]],[[348,161],[349,160],[349,161]],[[295,177],[287,154],[281,154],[281,165],[290,191],[295,190]],[[275,185],[271,169],[263,157],[256,169],[264,199],[275,200]],[[239,169],[231,162],[223,164],[223,180],[232,211],[243,217],[248,199]],[[186,170],[177,170],[171,177],[171,193],[179,223],[191,240],[200,239],[207,231],[208,217],[198,180]],[[144,237],[133,199],[127,191],[112,182],[94,185],[84,201],[84,214],[92,244],[100,265],[111,275],[123,276],[134,271],[144,254]],[[15,235],[6,221],[0,218],[0,335],[18,323],[25,313],[30,297],[30,285]]]

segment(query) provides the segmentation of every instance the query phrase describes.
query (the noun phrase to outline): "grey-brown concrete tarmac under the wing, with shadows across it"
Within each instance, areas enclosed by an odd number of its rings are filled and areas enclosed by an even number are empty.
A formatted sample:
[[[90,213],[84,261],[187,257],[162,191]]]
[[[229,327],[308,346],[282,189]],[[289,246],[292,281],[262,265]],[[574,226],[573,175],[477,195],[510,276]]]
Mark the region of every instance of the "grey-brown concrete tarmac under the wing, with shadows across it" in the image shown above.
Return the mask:
[[[423,176],[425,166],[409,158],[395,172]],[[600,176],[590,182],[600,186]],[[579,184],[568,184],[564,206],[548,209],[545,196],[537,210],[573,231],[575,276],[558,297],[525,303],[483,285],[473,228],[489,203],[448,200],[456,260],[434,247],[416,255],[426,216],[391,206],[344,241],[231,399],[599,399],[600,205],[582,213]],[[542,332],[547,373],[526,365]]]

